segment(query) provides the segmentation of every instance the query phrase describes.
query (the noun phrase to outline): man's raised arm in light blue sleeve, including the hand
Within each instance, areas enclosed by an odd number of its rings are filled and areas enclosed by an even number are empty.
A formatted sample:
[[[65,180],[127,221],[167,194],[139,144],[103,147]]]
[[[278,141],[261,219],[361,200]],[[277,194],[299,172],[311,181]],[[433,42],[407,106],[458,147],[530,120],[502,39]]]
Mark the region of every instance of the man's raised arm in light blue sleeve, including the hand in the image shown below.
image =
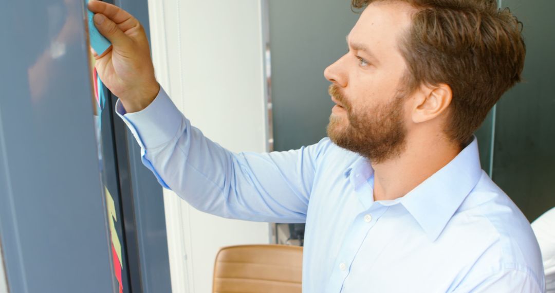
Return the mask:
[[[322,145],[266,154],[234,154],[191,127],[155,77],[147,37],[122,9],[89,2],[112,50],[97,56],[100,79],[120,100],[117,112],[160,184],[191,205],[226,218],[304,222]],[[198,109],[203,110],[203,109]]]

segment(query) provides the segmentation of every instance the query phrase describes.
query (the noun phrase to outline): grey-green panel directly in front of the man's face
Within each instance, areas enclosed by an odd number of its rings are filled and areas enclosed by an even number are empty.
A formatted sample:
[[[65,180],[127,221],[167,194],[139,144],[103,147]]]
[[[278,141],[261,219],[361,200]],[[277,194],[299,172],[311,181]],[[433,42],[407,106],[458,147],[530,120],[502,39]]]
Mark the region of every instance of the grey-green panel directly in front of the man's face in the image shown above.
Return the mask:
[[[269,1],[274,149],[326,136],[331,102],[324,69],[347,52],[359,14],[347,0]]]

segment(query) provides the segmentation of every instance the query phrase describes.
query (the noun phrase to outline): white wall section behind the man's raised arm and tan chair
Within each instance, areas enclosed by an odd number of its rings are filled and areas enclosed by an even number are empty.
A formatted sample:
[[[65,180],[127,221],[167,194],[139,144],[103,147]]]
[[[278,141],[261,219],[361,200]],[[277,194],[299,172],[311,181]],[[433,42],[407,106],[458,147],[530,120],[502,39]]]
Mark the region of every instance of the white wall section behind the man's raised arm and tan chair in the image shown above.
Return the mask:
[[[157,78],[174,103],[231,151],[266,151],[261,4],[149,1]],[[164,190],[173,292],[211,292],[221,246],[269,243],[269,225],[218,218]]]

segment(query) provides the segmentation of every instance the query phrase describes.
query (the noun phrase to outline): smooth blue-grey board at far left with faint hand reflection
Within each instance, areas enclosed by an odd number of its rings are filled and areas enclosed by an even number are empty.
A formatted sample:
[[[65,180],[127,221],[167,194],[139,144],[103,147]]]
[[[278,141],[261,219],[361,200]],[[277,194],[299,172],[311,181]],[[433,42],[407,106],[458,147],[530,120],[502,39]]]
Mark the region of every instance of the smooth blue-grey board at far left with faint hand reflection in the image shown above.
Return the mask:
[[[12,293],[113,292],[83,1],[0,18],[0,239]]]

